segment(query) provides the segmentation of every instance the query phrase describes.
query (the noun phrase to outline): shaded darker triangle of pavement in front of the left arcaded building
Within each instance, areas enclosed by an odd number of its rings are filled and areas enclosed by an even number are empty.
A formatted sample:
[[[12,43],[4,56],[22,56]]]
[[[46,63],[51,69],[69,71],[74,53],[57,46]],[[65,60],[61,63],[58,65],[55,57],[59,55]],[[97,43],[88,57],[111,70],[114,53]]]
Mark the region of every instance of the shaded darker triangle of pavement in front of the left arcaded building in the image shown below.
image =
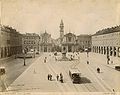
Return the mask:
[[[38,56],[36,58],[27,58],[26,66],[23,66],[23,59],[15,59],[14,56],[0,60],[0,65],[6,68],[6,74],[1,76],[0,91],[4,91],[5,88],[15,81],[37,58]]]

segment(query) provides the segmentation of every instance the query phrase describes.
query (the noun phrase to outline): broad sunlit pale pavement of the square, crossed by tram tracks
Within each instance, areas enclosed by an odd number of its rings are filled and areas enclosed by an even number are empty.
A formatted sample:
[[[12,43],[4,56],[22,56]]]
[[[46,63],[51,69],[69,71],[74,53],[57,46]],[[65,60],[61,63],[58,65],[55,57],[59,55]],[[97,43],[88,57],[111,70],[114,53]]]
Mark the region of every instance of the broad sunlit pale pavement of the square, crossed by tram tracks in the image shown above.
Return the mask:
[[[44,58],[47,62],[44,63]],[[61,57],[58,56],[59,59]],[[106,64],[103,55],[89,53],[79,54],[79,59],[73,61],[55,61],[51,53],[44,53],[36,59],[7,89],[7,91],[40,91],[40,92],[116,92],[120,91],[120,72],[114,70],[113,64]],[[89,60],[90,64],[86,64]],[[113,59],[114,61],[116,59]],[[115,62],[119,62],[116,60]],[[81,83],[73,84],[68,71],[71,67],[76,67],[81,71]],[[96,68],[101,68],[101,73],[96,72]],[[63,74],[64,83],[56,80],[57,74]],[[53,80],[49,81],[47,75],[52,74]]]

